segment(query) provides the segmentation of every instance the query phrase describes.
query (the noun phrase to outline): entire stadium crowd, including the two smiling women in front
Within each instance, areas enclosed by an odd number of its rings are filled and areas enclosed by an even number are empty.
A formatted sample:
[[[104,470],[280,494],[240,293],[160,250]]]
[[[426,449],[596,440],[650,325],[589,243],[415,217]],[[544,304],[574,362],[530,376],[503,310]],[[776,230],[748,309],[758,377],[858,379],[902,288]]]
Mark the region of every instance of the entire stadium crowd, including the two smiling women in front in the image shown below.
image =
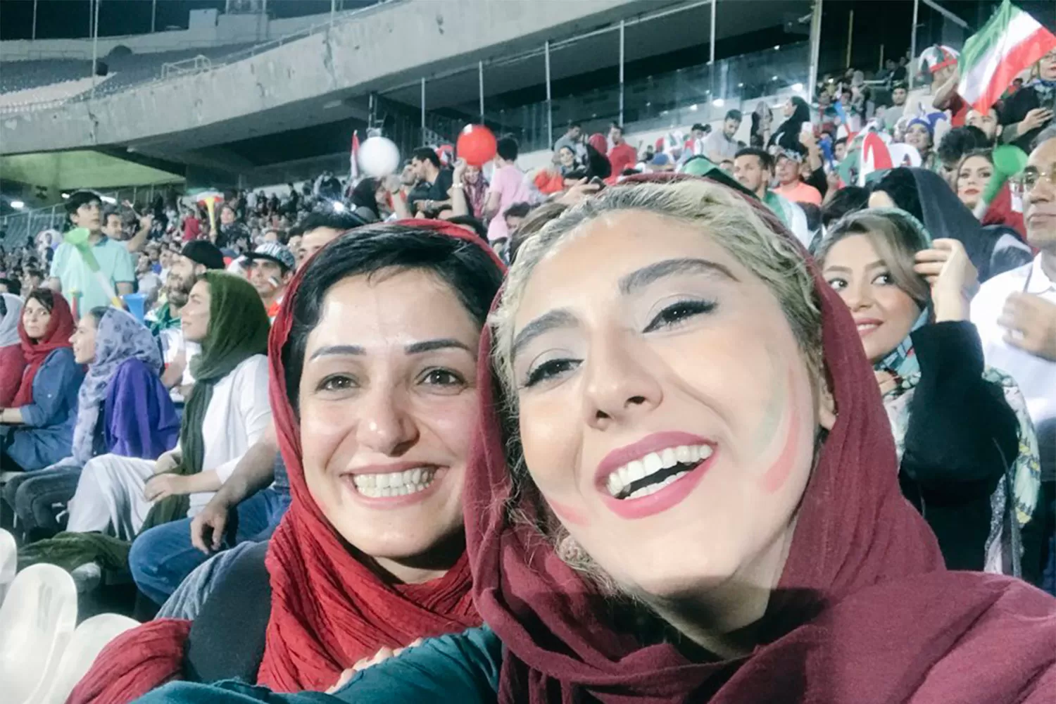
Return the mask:
[[[1052,701],[1056,50],[920,68],[4,242],[69,702]]]

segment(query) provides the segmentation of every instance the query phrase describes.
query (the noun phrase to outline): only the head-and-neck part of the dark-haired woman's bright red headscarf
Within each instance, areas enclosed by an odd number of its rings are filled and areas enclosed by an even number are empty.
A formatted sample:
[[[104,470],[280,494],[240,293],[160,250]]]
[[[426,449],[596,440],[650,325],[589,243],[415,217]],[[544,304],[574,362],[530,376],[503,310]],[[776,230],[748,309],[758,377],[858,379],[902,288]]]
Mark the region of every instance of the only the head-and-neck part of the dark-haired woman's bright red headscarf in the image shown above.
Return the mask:
[[[420,220],[402,224],[472,243],[503,268],[482,240],[457,226]],[[295,290],[299,281],[299,277],[294,280]],[[388,584],[348,553],[313,500],[304,481],[301,434],[286,400],[282,367],[282,346],[293,323],[293,308],[284,305],[268,349],[271,407],[294,498],[267,553],[271,619],[258,680],[278,691],[325,689],[343,669],[382,646],[398,648],[419,636],[461,631],[480,623],[470,594],[465,554],[439,579]]]

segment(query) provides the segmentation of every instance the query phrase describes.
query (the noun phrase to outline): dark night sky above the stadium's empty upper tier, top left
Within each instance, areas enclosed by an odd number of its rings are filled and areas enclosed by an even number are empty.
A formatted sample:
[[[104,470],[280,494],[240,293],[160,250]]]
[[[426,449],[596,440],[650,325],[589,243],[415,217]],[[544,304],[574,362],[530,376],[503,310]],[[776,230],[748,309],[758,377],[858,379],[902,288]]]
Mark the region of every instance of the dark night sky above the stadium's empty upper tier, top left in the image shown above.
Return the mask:
[[[102,0],[99,5],[99,36],[145,34],[150,32],[151,0]],[[191,9],[224,9],[224,0],[157,0],[156,28],[187,27]],[[341,2],[338,3],[339,8]],[[371,4],[364,0],[344,0],[352,9]],[[57,39],[89,36],[91,0],[37,0],[37,38]],[[268,0],[268,14],[275,18],[328,13],[331,0]],[[0,39],[29,39],[33,25],[33,0],[0,1]]]

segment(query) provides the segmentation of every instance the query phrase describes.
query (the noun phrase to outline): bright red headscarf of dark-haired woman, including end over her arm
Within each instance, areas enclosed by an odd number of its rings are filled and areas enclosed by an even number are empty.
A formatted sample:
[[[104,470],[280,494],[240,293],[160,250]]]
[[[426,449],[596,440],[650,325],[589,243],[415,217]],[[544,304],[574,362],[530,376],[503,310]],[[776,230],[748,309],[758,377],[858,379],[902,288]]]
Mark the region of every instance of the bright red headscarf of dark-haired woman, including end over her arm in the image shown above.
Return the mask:
[[[397,224],[464,240],[505,268],[486,243],[460,227],[421,220]],[[286,398],[282,366],[282,347],[293,326],[293,305],[303,270],[290,282],[268,340],[272,417],[293,494],[266,558],[271,615],[258,680],[278,691],[326,689],[337,683],[342,670],[383,646],[401,647],[417,638],[480,624],[465,554],[439,579],[388,584],[353,557],[312,498],[301,465],[300,429]],[[168,619],[117,636],[67,704],[126,704],[180,679],[189,630],[188,622]]]

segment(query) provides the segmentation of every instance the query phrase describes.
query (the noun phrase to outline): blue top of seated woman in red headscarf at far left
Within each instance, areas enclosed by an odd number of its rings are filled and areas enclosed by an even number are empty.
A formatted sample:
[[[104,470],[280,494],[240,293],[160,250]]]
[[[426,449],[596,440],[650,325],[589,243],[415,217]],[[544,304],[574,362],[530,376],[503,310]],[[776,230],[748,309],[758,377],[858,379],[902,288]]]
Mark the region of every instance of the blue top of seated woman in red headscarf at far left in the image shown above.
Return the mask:
[[[56,349],[40,365],[33,378],[33,402],[20,408],[22,425],[10,426],[7,456],[23,470],[41,470],[70,456],[83,378],[71,347]]]

